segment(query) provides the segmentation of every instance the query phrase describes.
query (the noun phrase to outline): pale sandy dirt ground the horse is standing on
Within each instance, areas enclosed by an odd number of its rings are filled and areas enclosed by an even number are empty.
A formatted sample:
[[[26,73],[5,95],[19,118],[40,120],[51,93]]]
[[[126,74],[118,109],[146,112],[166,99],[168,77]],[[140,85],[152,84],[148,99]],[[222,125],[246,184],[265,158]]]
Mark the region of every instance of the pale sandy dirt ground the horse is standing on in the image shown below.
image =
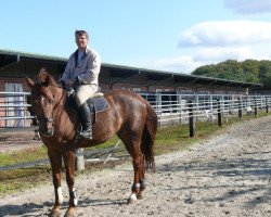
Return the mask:
[[[76,179],[78,216],[271,216],[271,116],[235,125],[191,150],[156,157],[144,200],[126,205],[131,165]],[[66,184],[63,184],[65,187]],[[0,216],[47,216],[51,183],[0,200]],[[67,191],[64,188],[65,202]],[[67,207],[64,203],[63,214]]]

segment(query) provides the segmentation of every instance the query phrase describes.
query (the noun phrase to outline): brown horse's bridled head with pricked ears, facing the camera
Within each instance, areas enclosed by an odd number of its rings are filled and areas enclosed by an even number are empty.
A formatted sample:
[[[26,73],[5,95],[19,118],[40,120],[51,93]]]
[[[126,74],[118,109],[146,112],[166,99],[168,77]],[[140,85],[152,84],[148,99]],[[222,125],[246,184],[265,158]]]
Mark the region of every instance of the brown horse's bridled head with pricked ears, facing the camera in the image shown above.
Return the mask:
[[[39,119],[40,130],[43,136],[52,137],[54,133],[55,105],[60,102],[62,89],[51,75],[42,68],[34,81],[26,77],[31,89],[29,102],[35,115]]]

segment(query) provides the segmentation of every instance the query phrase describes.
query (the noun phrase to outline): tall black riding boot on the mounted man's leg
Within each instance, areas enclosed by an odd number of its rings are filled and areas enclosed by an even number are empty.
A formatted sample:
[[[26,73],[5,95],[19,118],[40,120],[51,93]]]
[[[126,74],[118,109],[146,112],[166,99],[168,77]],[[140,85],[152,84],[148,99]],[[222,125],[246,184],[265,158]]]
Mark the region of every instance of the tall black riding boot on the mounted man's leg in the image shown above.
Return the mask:
[[[92,139],[91,112],[87,102],[85,102],[79,107],[79,113],[80,113],[82,130],[79,132],[78,139],[81,139],[81,138]]]

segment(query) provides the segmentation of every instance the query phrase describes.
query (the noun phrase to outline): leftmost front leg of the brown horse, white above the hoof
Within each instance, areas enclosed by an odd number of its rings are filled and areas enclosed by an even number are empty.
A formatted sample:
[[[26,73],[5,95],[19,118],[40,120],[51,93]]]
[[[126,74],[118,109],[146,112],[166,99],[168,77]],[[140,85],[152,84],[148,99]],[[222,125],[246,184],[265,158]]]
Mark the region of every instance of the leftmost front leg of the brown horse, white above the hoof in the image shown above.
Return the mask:
[[[56,150],[48,149],[48,156],[52,168],[53,186],[55,193],[54,207],[49,216],[61,216],[61,204],[63,202],[62,189],[61,189],[61,167],[62,167],[62,153]]]

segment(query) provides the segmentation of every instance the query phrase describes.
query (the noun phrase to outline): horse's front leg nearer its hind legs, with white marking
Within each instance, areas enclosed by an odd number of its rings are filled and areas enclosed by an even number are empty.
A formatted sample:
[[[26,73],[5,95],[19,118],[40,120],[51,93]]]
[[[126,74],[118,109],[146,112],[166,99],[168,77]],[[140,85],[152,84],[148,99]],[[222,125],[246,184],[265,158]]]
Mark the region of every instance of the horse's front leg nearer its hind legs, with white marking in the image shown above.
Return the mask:
[[[75,151],[65,151],[63,158],[66,169],[66,182],[69,191],[69,206],[65,217],[75,216],[75,207],[77,206],[78,199],[75,191]]]

